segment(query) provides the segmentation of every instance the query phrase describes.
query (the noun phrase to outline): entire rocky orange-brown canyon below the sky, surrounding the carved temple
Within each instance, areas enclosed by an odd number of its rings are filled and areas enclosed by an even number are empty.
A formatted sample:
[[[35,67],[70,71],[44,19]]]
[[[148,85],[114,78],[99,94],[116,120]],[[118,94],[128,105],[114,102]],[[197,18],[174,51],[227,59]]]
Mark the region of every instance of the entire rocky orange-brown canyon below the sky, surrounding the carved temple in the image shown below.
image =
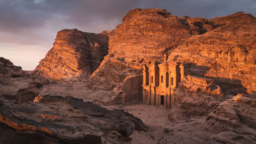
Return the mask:
[[[163,61],[189,67],[171,107],[142,102],[145,67]],[[0,58],[0,131],[23,142],[255,143],[255,66],[251,14],[136,8],[112,31],[59,31],[29,73]]]

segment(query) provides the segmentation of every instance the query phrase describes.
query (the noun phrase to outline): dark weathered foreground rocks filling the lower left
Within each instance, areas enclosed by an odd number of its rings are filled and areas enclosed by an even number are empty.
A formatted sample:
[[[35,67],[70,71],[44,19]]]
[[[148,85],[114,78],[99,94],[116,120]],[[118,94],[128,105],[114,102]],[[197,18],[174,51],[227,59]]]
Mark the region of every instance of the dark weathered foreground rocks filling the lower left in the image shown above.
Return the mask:
[[[104,144],[116,140],[109,137],[113,131],[131,140],[134,130],[149,130],[123,110],[107,110],[71,96],[36,97],[42,89],[39,80],[0,58],[1,144]]]

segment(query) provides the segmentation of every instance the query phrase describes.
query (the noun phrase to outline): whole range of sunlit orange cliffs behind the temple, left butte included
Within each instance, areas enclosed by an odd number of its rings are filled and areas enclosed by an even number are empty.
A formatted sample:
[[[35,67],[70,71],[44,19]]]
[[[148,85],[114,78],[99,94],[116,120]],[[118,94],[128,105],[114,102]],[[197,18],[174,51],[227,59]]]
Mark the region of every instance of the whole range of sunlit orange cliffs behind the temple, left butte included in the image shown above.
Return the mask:
[[[214,79],[226,94],[255,95],[255,22],[243,12],[207,20],[136,8],[111,32],[58,32],[32,75],[43,82],[91,76],[90,88],[112,90],[167,53],[169,61],[189,64],[193,75]]]

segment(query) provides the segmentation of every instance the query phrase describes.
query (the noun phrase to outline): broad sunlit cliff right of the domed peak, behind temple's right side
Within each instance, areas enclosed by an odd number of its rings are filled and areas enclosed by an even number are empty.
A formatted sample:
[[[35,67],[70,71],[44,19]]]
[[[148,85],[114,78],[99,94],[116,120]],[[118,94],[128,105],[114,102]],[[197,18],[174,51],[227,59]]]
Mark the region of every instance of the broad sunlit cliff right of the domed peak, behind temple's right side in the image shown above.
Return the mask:
[[[193,75],[214,79],[226,94],[256,95],[255,17],[237,12],[207,23],[208,32],[188,38],[169,60],[187,62]]]

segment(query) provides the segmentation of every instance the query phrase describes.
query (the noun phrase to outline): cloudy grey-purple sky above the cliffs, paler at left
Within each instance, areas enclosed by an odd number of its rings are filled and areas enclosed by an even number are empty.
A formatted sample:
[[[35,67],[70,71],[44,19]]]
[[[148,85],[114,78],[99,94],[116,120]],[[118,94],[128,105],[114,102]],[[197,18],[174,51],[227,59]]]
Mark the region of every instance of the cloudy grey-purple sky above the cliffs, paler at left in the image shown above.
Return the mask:
[[[58,31],[112,30],[134,8],[161,8],[175,16],[207,19],[238,11],[256,16],[256,0],[0,0],[0,57],[33,70]]]

